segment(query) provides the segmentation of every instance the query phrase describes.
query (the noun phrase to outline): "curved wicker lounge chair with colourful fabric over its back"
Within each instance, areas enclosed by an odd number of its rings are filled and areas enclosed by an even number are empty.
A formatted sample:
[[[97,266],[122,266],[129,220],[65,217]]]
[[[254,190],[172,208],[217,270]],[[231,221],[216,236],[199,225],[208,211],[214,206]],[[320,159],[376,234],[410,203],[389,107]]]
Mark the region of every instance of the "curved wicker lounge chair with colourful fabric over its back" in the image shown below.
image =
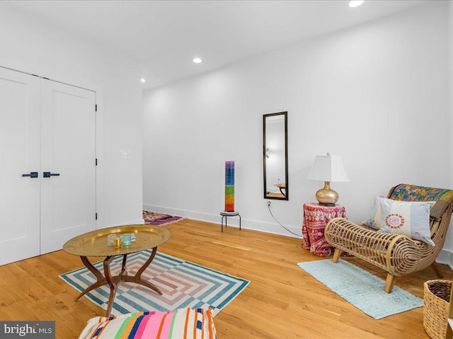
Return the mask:
[[[390,293],[395,278],[431,266],[440,277],[435,258],[445,242],[453,211],[453,191],[430,187],[399,184],[387,196],[400,201],[436,201],[430,209],[431,239],[435,246],[413,240],[405,235],[377,232],[362,224],[344,218],[332,219],[326,225],[326,241],[335,247],[333,262],[337,263],[343,251],[386,270],[384,291]]]

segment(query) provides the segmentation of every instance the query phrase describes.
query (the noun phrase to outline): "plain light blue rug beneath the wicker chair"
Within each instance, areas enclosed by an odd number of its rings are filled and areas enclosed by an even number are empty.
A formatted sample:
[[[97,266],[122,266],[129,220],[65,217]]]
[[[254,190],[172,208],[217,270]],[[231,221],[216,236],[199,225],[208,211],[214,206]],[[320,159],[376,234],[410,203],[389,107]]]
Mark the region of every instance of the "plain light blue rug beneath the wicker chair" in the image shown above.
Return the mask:
[[[297,266],[374,319],[423,306],[423,299],[400,287],[395,286],[391,293],[384,292],[384,280],[342,259],[338,263],[326,259]]]

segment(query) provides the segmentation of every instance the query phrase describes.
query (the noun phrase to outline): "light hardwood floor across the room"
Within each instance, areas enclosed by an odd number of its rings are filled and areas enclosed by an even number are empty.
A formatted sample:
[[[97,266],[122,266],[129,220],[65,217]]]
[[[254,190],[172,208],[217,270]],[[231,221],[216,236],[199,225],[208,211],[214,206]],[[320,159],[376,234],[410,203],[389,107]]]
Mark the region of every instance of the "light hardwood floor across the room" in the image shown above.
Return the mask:
[[[245,226],[245,225],[244,225]],[[300,269],[320,260],[301,249],[300,239],[195,220],[166,226],[171,239],[159,251],[250,280],[250,285],[214,319],[217,338],[429,338],[423,308],[374,320]],[[348,258],[385,279],[385,272]],[[152,263],[151,263],[152,265]],[[57,338],[78,338],[86,321],[105,311],[58,275],[83,266],[63,251],[0,266],[1,320],[54,320]],[[452,270],[440,265],[445,279]],[[423,298],[423,283],[437,279],[427,268],[398,278],[396,285]]]

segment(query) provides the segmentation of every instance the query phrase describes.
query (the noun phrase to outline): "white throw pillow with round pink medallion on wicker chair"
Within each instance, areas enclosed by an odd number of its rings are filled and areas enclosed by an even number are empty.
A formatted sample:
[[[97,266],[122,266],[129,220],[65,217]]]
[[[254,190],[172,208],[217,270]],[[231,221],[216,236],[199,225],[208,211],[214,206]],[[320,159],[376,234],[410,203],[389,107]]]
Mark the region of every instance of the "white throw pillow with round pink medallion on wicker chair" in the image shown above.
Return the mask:
[[[435,201],[378,200],[381,207],[381,232],[403,234],[434,246],[431,240],[430,208]]]

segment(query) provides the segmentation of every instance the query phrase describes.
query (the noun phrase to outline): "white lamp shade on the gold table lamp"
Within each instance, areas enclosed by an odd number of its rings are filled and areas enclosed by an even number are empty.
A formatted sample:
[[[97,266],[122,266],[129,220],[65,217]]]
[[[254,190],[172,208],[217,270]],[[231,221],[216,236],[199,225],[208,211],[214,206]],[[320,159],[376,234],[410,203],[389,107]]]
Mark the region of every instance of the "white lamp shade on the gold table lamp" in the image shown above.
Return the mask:
[[[314,165],[306,179],[320,182],[350,181],[340,155],[316,155]]]

